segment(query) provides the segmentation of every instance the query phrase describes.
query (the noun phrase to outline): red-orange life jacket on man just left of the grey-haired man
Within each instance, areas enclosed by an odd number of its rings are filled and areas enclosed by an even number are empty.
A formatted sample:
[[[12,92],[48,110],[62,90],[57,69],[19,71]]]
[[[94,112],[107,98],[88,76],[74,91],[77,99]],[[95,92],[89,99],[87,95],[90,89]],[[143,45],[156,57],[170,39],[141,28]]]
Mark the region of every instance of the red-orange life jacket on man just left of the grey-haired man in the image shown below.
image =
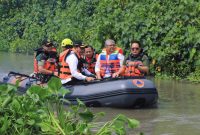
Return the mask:
[[[98,58],[98,54],[94,54],[90,61],[88,61],[87,58],[84,57],[83,66],[92,74],[95,74],[95,65],[96,65],[97,58]]]

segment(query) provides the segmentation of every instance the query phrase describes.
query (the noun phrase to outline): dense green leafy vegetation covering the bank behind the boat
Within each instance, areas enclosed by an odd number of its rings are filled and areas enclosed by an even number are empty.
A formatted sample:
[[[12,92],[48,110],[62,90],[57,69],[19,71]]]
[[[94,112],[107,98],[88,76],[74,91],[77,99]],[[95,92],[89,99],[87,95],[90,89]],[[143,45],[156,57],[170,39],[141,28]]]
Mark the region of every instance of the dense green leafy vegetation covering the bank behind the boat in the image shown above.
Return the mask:
[[[32,53],[65,37],[100,50],[113,38],[127,55],[135,39],[152,74],[200,82],[199,12],[198,0],[1,0],[0,50]]]

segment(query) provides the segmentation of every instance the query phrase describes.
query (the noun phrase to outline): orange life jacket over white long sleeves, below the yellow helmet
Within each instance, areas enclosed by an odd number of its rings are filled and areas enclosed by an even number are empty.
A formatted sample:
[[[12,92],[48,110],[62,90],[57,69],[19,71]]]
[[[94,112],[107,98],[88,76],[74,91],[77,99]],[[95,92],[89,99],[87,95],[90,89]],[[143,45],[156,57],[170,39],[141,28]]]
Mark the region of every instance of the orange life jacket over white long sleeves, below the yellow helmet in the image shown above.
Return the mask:
[[[60,63],[59,78],[61,79],[67,79],[72,77],[69,65],[68,63],[66,63],[66,58],[71,53],[72,50],[75,52],[76,57],[80,61],[80,55],[78,55],[74,49],[67,49],[63,51],[59,56],[59,63]],[[78,64],[77,69],[78,72],[80,72],[80,64]]]

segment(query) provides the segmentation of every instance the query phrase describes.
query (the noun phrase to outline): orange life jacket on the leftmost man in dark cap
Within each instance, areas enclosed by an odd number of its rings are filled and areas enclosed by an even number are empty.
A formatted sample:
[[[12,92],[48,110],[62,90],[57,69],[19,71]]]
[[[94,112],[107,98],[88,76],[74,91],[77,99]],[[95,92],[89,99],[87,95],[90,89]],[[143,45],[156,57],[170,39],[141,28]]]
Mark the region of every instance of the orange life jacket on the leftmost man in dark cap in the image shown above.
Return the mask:
[[[56,48],[52,48],[52,51],[56,52]],[[38,61],[36,60],[37,55],[39,55],[40,53],[42,53],[42,51],[34,53],[34,73],[38,73]],[[44,69],[46,70],[50,70],[50,71],[56,71],[57,69],[57,63],[56,63],[56,59],[54,58],[48,58],[43,66]]]

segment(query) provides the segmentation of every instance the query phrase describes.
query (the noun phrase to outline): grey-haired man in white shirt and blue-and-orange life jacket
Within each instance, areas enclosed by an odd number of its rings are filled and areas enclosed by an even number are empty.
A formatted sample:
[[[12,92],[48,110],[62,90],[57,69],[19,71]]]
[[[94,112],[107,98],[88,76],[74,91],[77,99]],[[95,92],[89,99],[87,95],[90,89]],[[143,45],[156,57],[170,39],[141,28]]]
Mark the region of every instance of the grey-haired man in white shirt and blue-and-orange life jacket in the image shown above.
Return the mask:
[[[107,39],[105,41],[105,50],[98,56],[95,72],[97,79],[115,77],[115,74],[122,67],[124,55],[116,50],[115,41]]]

